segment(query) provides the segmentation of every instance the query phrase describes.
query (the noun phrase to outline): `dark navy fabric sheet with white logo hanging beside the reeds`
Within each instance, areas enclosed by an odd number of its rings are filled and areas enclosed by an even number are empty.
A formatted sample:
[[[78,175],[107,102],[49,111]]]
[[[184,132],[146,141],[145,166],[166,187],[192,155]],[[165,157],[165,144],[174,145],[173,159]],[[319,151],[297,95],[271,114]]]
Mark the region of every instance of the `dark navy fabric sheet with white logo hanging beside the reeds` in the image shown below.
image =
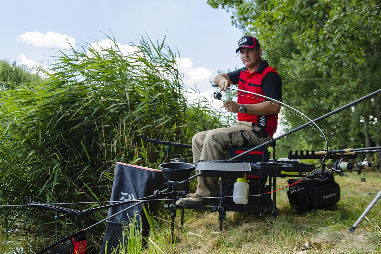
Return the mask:
[[[110,204],[113,204],[112,201],[129,201],[150,196],[155,190],[162,190],[163,188],[165,188],[165,180],[161,170],[117,162],[115,166]],[[107,216],[131,206],[131,204],[133,203],[110,207]],[[155,214],[159,204],[160,201],[148,201],[145,203],[145,207],[148,208],[151,213]],[[128,242],[127,237],[125,237],[125,230],[134,217],[136,217],[136,226],[142,227],[142,241],[143,245],[146,244],[150,227],[143,211],[143,204],[139,204],[138,206],[107,220],[106,232],[99,254],[106,252],[111,253],[115,249],[116,253],[119,253],[118,248],[120,244],[122,246],[127,246]]]

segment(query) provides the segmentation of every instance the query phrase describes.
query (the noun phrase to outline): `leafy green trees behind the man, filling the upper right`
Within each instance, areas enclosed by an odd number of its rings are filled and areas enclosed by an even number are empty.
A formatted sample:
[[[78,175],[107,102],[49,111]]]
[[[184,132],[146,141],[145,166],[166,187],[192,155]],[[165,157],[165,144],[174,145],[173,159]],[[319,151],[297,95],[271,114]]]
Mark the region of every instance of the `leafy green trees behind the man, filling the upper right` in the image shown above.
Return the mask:
[[[311,119],[380,89],[381,15],[376,0],[209,0],[232,13],[232,23],[259,38],[283,79],[283,100]],[[381,95],[321,122],[329,146],[381,145]],[[283,111],[283,125],[303,122]],[[322,149],[312,129],[280,144]]]

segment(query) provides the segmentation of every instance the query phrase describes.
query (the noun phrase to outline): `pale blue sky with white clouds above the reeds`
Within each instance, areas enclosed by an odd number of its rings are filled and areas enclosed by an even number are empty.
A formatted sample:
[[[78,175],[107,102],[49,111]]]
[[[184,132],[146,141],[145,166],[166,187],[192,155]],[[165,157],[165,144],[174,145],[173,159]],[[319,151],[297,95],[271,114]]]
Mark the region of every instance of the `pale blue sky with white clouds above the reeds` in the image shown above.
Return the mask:
[[[67,41],[78,48],[103,43],[106,35],[128,44],[141,35],[158,39],[180,53],[187,87],[211,99],[217,71],[243,67],[235,49],[242,32],[231,14],[206,0],[0,0],[0,59],[33,67],[48,66]],[[5,22],[6,21],[6,22]],[[7,25],[5,25],[7,24]]]

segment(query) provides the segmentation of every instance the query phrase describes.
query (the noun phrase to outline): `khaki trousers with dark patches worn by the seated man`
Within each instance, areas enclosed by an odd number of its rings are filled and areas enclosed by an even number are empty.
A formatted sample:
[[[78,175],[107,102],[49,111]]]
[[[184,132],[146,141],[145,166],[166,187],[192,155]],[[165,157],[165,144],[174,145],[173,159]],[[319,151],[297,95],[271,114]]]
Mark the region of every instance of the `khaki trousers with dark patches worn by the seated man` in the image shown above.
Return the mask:
[[[224,160],[224,151],[232,146],[260,145],[271,137],[253,122],[238,121],[228,128],[199,132],[192,138],[193,163],[198,160]],[[196,170],[199,173],[199,170]],[[198,195],[214,197],[218,195],[218,177],[197,177]]]

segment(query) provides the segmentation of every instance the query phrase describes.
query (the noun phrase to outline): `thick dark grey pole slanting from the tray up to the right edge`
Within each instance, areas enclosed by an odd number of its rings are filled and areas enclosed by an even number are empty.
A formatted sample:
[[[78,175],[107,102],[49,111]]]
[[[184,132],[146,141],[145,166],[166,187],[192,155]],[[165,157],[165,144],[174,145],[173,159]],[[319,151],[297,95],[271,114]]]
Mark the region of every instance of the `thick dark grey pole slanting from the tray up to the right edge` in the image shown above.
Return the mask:
[[[342,111],[342,110],[344,110],[344,109],[346,109],[346,108],[349,108],[349,107],[351,107],[351,106],[353,106],[353,105],[355,105],[355,104],[357,104],[357,103],[360,103],[361,101],[367,100],[367,99],[369,99],[369,98],[375,96],[375,95],[378,94],[378,93],[381,93],[381,89],[376,90],[375,92],[370,93],[370,94],[368,94],[368,95],[365,95],[365,96],[363,96],[363,97],[360,98],[360,99],[357,99],[357,100],[355,100],[355,101],[352,101],[351,103],[348,103],[348,104],[346,104],[346,105],[344,105],[344,106],[342,106],[342,107],[340,107],[340,108],[338,108],[338,109],[335,109],[335,110],[331,111],[330,113],[327,113],[327,114],[325,114],[325,115],[323,115],[323,116],[320,116],[320,117],[316,118],[316,119],[313,120],[313,121],[314,121],[314,122],[318,122],[318,121],[320,121],[320,120],[322,120],[322,119],[327,118],[328,116],[332,116],[333,114],[336,114],[336,113],[338,113],[338,112],[340,112],[340,111]],[[296,128],[293,129],[293,130],[290,130],[290,131],[288,131],[288,132],[286,132],[286,133],[280,135],[279,137],[273,138],[273,140],[278,140],[278,139],[280,139],[280,138],[286,137],[287,135],[290,135],[291,133],[294,133],[294,132],[296,132],[296,131],[298,131],[298,130],[301,130],[301,129],[303,129],[304,127],[307,127],[307,126],[309,126],[309,125],[311,125],[311,124],[312,124],[311,121],[310,121],[310,122],[307,122],[307,123],[305,123],[305,124],[303,124],[303,125],[300,125],[299,127],[296,127]],[[237,158],[239,158],[239,157],[241,157],[241,156],[243,156],[243,155],[245,155],[245,154],[248,154],[248,153],[250,153],[250,152],[252,152],[252,151],[255,151],[255,150],[257,150],[257,149],[259,149],[259,148],[261,148],[261,147],[263,147],[263,146],[266,146],[266,145],[268,145],[268,144],[270,144],[270,141],[266,141],[265,143],[263,143],[263,144],[261,144],[261,145],[258,145],[258,146],[254,147],[254,148],[251,148],[250,150],[247,150],[247,151],[245,151],[245,152],[243,152],[243,153],[240,153],[240,154],[238,154],[237,156],[234,156],[233,158],[228,159],[228,161],[233,161],[233,160],[235,160],[235,159],[237,159]]]

